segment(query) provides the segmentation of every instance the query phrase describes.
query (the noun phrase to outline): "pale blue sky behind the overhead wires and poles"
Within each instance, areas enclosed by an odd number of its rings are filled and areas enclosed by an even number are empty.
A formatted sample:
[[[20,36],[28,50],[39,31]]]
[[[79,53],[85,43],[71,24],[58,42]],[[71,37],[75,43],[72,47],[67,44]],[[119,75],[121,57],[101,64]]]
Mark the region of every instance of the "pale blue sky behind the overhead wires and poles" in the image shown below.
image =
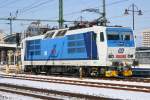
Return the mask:
[[[9,18],[10,13],[18,19],[58,19],[59,0],[0,0],[0,18]],[[102,0],[63,0],[65,20],[94,20],[100,15],[92,12],[81,12],[87,8],[99,8],[102,10]],[[150,28],[150,0],[106,0],[106,17],[109,25],[127,26],[132,28],[132,13],[124,15],[125,9],[131,10],[132,4],[136,10],[142,10],[143,15],[135,12],[135,34],[138,45],[141,44],[144,29]],[[16,16],[16,11],[18,14]],[[23,32],[31,22],[13,21],[13,32]],[[50,26],[57,23],[43,22]],[[9,34],[9,21],[0,20],[0,29]]]

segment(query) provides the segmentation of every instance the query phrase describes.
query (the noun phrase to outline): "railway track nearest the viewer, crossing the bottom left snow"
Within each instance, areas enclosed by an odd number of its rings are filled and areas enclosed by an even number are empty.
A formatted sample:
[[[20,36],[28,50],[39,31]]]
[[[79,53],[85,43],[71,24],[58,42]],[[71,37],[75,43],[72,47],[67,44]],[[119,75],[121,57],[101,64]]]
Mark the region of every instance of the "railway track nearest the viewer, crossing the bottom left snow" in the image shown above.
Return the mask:
[[[30,96],[34,98],[39,98],[42,100],[65,100],[69,98],[69,100],[116,100],[105,97],[97,97],[91,95],[84,95],[78,93],[69,93],[62,92],[56,90],[47,90],[47,89],[39,89],[27,86],[18,86],[12,84],[4,84],[0,83],[0,91],[15,93],[24,96]]]

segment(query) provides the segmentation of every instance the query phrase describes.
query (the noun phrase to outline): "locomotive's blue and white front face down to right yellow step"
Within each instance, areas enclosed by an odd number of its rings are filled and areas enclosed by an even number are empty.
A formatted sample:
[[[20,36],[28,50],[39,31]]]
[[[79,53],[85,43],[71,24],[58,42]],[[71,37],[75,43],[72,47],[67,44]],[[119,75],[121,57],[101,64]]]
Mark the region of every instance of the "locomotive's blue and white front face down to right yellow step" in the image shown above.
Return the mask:
[[[135,59],[135,42],[133,31],[130,28],[107,28],[107,57],[108,61],[119,62],[118,75],[132,76],[131,65]]]

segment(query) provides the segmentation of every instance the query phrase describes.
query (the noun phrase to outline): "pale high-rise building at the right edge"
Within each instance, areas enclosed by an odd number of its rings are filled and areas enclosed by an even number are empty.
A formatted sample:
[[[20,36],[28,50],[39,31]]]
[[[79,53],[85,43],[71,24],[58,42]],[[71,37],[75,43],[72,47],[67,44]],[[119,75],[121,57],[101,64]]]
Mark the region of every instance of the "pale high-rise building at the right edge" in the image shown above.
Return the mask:
[[[143,41],[142,46],[143,47],[150,47],[150,29],[146,29],[142,32],[143,34]]]

